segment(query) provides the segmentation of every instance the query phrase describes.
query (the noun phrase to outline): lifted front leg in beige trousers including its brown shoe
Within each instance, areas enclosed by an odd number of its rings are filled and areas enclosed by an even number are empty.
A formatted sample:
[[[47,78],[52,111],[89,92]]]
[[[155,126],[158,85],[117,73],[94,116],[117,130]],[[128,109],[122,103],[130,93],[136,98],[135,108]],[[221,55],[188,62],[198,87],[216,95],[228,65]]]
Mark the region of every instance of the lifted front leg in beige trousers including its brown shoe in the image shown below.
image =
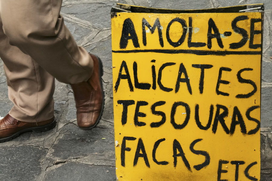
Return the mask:
[[[62,1],[0,2],[3,30],[9,43],[59,81],[71,84],[78,125],[83,129],[94,127],[101,117],[104,99],[101,61],[76,45],[59,15]]]

